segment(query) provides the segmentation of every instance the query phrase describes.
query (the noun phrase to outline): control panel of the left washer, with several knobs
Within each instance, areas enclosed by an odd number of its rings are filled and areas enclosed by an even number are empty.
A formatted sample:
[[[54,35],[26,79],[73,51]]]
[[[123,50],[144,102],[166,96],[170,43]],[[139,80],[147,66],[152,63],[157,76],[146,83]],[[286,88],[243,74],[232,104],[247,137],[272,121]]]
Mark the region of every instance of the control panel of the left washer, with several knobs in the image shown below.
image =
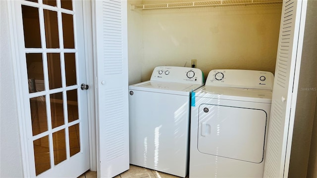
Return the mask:
[[[203,85],[204,75],[197,68],[159,66],[153,70],[151,81]]]

